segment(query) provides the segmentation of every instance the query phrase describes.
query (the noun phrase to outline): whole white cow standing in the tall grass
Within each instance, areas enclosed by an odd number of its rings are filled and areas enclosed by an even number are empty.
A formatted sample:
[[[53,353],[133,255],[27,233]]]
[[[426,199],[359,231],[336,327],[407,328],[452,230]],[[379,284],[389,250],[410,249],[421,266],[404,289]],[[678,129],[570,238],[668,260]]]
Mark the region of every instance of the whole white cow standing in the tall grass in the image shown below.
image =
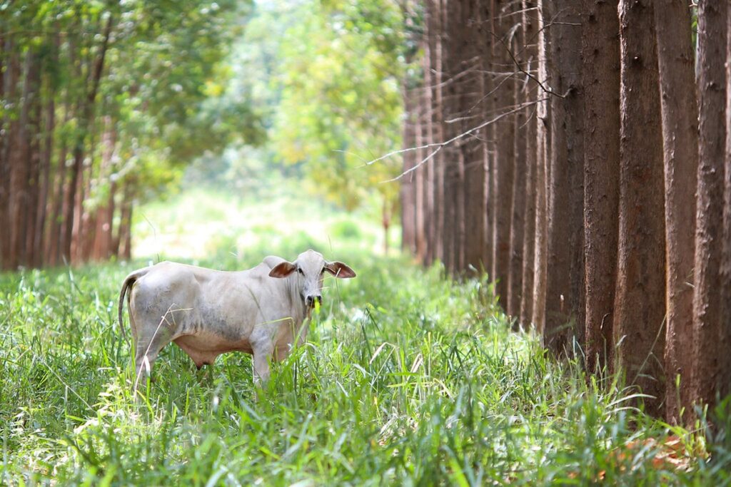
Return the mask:
[[[281,361],[307,337],[314,303],[322,302],[325,272],[355,277],[342,262],[314,250],[294,262],[268,256],[253,269],[236,272],[161,262],[129,274],[119,294],[119,326],[128,296],[135,340],[135,391],[157,354],[175,342],[200,369],[216,356],[241,350],[254,356],[254,380],[268,380],[269,359]],[[129,290],[129,293],[127,292]],[[303,323],[306,323],[303,326]]]

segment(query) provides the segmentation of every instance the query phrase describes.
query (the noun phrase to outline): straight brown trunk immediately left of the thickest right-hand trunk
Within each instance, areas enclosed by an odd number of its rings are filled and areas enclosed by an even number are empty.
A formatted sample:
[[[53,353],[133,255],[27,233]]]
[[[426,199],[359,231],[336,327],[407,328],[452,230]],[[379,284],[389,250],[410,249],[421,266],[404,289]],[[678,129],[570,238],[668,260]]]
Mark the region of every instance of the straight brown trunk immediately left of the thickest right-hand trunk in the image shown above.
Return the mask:
[[[619,231],[618,0],[583,0],[586,368],[612,371]]]

